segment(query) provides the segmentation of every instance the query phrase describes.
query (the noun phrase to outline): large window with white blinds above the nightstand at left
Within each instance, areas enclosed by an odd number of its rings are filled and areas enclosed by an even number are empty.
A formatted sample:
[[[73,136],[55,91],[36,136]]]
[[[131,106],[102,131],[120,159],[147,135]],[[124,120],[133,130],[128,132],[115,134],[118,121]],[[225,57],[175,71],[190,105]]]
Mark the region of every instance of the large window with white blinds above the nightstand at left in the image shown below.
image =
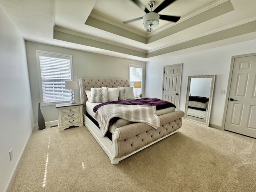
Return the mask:
[[[72,80],[72,56],[36,50],[42,105],[71,101],[65,81]]]

